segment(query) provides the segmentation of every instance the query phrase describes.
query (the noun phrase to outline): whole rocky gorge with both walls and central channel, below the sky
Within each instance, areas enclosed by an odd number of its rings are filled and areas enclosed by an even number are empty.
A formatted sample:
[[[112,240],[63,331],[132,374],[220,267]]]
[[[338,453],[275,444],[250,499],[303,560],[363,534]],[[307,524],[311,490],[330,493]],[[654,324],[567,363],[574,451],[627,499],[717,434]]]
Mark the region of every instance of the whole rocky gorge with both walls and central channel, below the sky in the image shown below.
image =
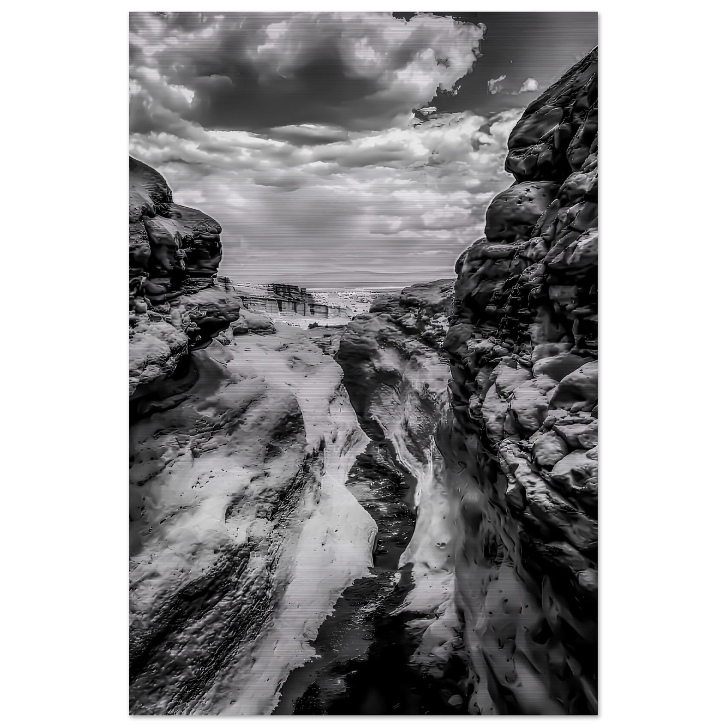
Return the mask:
[[[246,308],[130,159],[132,714],[598,712],[596,68],[453,278],[340,327]]]

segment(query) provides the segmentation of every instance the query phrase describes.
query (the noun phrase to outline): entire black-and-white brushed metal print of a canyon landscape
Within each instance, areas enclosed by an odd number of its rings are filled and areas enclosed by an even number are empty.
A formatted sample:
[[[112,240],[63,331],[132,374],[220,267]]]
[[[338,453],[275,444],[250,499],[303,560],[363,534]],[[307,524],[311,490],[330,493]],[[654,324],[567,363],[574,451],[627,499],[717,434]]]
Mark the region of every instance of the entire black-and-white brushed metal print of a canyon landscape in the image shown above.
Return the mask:
[[[595,13],[129,17],[133,715],[592,715]]]

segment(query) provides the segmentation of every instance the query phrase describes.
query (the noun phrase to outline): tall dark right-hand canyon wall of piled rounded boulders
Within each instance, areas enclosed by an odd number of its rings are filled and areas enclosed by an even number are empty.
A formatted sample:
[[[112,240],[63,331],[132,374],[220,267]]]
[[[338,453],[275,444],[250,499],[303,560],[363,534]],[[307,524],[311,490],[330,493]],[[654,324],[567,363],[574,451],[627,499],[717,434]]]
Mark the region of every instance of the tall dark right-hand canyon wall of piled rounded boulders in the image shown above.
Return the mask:
[[[437,441],[475,713],[597,711],[596,70],[594,50],[523,113],[515,184],[457,261]]]

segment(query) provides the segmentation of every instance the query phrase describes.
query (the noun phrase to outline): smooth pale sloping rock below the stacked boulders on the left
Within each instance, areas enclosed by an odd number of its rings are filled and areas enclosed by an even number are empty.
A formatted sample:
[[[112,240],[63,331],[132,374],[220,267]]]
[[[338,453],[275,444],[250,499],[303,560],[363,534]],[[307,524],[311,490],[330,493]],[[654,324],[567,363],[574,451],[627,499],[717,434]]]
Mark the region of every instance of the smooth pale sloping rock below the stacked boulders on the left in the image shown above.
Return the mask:
[[[188,357],[130,431],[130,711],[268,714],[376,526],[346,488],[369,439],[342,371],[284,326]]]

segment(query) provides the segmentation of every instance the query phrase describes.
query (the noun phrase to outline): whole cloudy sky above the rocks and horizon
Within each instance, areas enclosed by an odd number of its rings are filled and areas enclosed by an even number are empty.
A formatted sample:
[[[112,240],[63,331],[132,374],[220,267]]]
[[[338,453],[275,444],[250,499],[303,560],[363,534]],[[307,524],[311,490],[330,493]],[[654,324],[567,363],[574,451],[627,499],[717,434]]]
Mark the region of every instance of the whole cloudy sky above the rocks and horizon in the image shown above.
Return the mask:
[[[130,153],[220,222],[236,281],[453,277],[512,182],[510,129],[596,18],[131,13]]]

